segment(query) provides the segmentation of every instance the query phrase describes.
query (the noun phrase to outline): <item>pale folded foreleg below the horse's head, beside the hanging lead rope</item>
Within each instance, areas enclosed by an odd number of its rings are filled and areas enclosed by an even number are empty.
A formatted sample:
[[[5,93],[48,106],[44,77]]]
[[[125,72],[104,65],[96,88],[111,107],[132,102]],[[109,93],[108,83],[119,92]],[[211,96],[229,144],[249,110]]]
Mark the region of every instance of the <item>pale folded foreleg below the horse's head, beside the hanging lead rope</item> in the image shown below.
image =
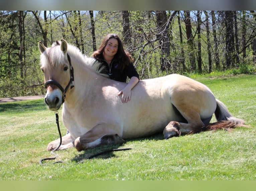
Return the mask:
[[[58,148],[58,150],[64,150],[64,149],[67,149],[67,148],[74,147],[75,139],[71,136],[70,133],[61,137],[61,139],[62,139],[61,140],[61,145]],[[55,148],[57,148],[57,146],[59,145],[59,141],[60,141],[60,139],[51,141],[47,146],[47,150],[50,151],[50,150],[54,150]]]

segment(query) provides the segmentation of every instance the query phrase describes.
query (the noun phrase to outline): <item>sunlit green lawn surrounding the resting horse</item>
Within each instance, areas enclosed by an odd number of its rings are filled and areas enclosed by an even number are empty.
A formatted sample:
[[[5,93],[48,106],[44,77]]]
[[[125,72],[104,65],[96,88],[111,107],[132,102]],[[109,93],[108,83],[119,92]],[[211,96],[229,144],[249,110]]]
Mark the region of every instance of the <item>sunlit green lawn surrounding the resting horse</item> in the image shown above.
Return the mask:
[[[117,147],[71,148],[55,152],[65,163],[41,166],[40,159],[52,157],[47,144],[58,138],[54,112],[43,99],[1,103],[0,180],[256,180],[255,75],[190,77],[206,84],[250,127],[127,140],[119,148],[132,150],[90,160],[85,158]],[[65,134],[61,119],[60,127]]]

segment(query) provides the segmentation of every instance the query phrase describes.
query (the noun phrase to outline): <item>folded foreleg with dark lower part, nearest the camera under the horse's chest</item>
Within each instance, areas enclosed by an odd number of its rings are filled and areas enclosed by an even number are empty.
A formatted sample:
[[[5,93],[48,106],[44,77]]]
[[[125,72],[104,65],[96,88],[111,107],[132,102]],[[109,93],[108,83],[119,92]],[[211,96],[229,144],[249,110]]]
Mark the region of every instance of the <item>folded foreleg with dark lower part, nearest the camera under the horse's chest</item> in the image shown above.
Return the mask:
[[[121,132],[119,132],[121,135]],[[75,147],[78,151],[88,148],[94,148],[108,144],[123,144],[123,140],[118,132],[106,126],[106,124],[98,124],[90,131],[75,140]]]

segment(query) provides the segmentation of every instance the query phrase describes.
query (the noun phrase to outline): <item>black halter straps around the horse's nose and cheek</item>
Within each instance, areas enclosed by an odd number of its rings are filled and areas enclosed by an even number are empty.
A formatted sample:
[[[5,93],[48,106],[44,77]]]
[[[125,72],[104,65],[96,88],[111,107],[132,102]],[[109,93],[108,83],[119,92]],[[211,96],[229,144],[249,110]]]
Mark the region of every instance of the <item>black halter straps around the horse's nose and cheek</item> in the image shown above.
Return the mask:
[[[47,85],[48,84],[54,84],[55,86],[57,86],[61,91],[62,91],[62,103],[64,103],[65,101],[65,97],[66,97],[66,92],[68,91],[69,87],[70,89],[74,88],[74,68],[71,64],[71,60],[70,60],[70,56],[67,53],[67,57],[68,57],[68,61],[69,61],[69,65],[70,65],[70,81],[69,84],[67,85],[67,87],[64,89],[62,88],[62,86],[55,80],[48,80],[45,84],[44,87],[46,89],[45,93],[47,92]]]

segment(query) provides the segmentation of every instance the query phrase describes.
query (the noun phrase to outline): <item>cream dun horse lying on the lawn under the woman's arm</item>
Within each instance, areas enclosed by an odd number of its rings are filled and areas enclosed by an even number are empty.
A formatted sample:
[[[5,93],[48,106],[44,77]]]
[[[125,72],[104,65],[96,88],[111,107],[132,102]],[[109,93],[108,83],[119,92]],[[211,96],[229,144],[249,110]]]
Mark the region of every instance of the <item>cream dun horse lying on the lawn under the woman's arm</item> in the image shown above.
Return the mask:
[[[108,144],[119,145],[127,139],[163,132],[163,138],[206,130],[244,126],[233,117],[204,84],[171,74],[140,80],[131,91],[131,100],[118,95],[126,83],[101,74],[100,64],[83,55],[65,40],[46,48],[38,43],[44,73],[48,109],[62,105],[62,122],[69,131],[51,141],[47,150],[75,147],[78,151]],[[217,122],[210,123],[213,114]]]

